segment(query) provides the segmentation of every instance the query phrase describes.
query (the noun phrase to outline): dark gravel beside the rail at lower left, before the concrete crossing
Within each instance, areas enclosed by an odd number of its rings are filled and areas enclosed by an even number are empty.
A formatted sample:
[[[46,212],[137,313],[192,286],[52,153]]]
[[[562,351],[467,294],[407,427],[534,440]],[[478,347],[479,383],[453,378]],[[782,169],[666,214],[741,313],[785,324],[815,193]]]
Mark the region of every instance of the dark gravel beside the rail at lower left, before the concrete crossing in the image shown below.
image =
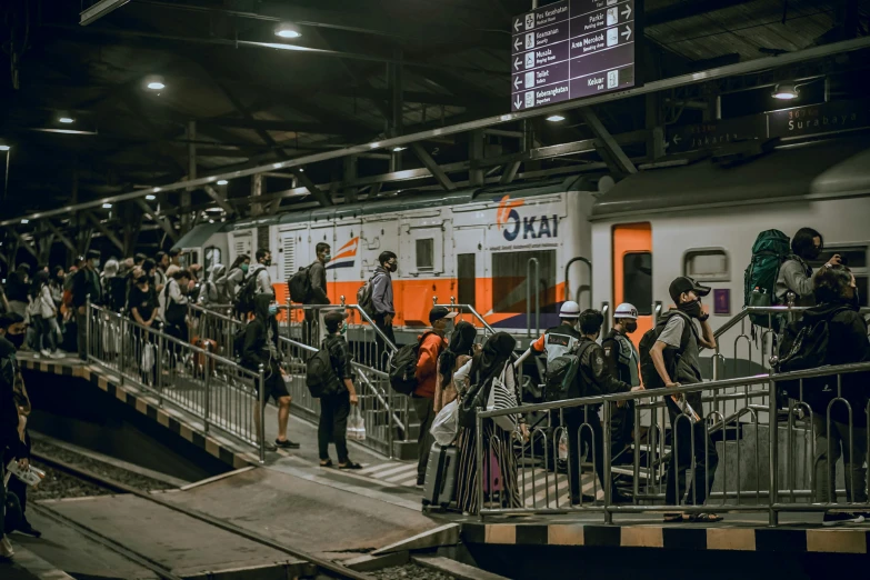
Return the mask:
[[[51,443],[46,443],[44,441],[33,440],[32,447],[33,451],[37,453],[46,454],[59,461],[80,467],[84,470],[91,471],[94,474],[102,476],[107,479],[112,479],[120,483],[126,483],[127,486],[142,491],[167,489],[170,487],[162,481],[157,481],[138,473],[131,473],[126,469],[80,456],[79,453],[52,446]],[[112,493],[110,490],[94,486],[88,481],[82,481],[79,478],[70,476],[63,471],[44,466],[40,463],[39,460],[33,460],[33,464],[46,471],[46,478],[36,488],[30,488],[28,492],[28,496],[34,500],[83,498],[87,496],[106,496]]]

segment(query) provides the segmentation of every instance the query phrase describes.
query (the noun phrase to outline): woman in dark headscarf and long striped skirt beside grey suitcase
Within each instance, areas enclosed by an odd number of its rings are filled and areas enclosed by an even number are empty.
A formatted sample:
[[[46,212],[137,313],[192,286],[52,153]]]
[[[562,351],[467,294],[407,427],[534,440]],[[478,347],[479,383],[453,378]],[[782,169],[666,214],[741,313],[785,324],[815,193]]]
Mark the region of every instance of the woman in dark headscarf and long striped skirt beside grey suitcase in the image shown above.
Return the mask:
[[[457,507],[462,512],[477,513],[478,478],[484,477],[484,491],[492,493],[500,488],[501,506],[519,508],[521,506],[519,483],[517,480],[517,456],[513,452],[516,432],[506,431],[492,419],[483,421],[483,473],[478,472],[477,460],[477,420],[476,407],[486,407],[489,390],[493,381],[503,377],[504,386],[517,393],[519,400],[519,381],[517,380],[510,357],[517,346],[517,339],[507,332],[492,334],[474,357],[459,369],[454,382],[469,381],[471,387],[462,394],[460,402],[460,428],[457,438],[459,448],[459,468],[457,472]],[[466,412],[468,411],[468,412]],[[526,424],[520,421],[523,436]],[[496,481],[498,480],[498,483]],[[490,498],[492,499],[492,498]]]

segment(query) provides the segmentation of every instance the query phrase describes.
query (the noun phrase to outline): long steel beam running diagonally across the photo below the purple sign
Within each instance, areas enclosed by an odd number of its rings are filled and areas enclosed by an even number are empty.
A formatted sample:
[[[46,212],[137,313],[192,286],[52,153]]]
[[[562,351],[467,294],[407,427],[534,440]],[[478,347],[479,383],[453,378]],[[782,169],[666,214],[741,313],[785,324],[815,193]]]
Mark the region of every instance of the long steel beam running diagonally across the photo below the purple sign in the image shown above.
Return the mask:
[[[701,82],[723,79],[727,77],[734,77],[734,76],[759,72],[768,69],[782,68],[789,64],[804,62],[808,60],[824,58],[832,54],[853,52],[868,48],[870,48],[870,37],[861,37],[852,40],[844,40],[842,42],[833,42],[831,44],[812,47],[804,50],[798,50],[794,52],[787,52],[784,54],[779,54],[776,57],[766,57],[761,59],[738,62],[736,64],[729,64],[716,69],[709,69],[706,71],[692,72],[679,77],[661,79],[658,81],[648,82],[642,87],[636,87],[633,89],[628,89],[624,91],[590,97],[581,101],[568,101],[568,102],[551,104],[548,107],[541,107],[539,109],[534,109],[530,111],[517,111],[517,112],[499,114],[494,117],[487,117],[483,119],[477,119],[473,121],[457,123],[448,127],[432,128],[427,131],[409,133],[401,137],[351,146],[334,151],[323,151],[319,153],[312,153],[309,156],[301,156],[298,158],[288,159],[286,161],[272,162],[263,166],[240,169],[237,171],[227,171],[224,173],[212,176],[210,178],[200,178],[192,181],[184,180],[184,181],[178,181],[176,183],[170,183],[168,186],[133,190],[127,193],[111,196],[109,198],[100,199],[97,201],[74,203],[50,211],[39,211],[26,216],[19,216],[16,218],[0,221],[0,226],[17,226],[21,222],[21,219],[39,220],[42,218],[49,218],[53,216],[69,214],[78,210],[99,208],[106,201],[111,203],[120,203],[123,201],[142,199],[146,196],[152,196],[161,191],[178,191],[188,187],[202,187],[204,184],[211,183],[214,179],[228,179],[228,180],[238,179],[240,177],[254,176],[258,173],[266,173],[270,171],[288,170],[292,168],[304,167],[310,163],[328,161],[330,159],[341,159],[350,154],[371,153],[372,151],[378,149],[383,150],[383,149],[391,149],[393,147],[408,147],[410,143],[417,141],[424,141],[432,138],[441,138],[446,136],[463,133],[463,132],[472,131],[474,129],[487,129],[489,127],[496,127],[503,123],[521,121],[524,119],[547,117],[549,114],[578,109],[581,107],[589,107],[602,102],[628,99],[631,97],[638,97],[641,94],[654,93],[668,89],[676,89],[680,87],[698,84]]]

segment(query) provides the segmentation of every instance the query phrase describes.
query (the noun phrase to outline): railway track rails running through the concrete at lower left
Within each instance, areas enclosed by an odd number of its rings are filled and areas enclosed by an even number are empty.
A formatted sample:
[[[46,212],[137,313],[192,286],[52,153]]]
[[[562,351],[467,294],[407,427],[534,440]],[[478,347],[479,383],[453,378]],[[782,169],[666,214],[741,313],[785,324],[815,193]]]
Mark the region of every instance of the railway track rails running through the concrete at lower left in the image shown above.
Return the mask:
[[[374,577],[364,574],[361,572],[358,572],[356,570],[351,570],[350,568],[347,568],[340,563],[324,560],[322,558],[319,558],[317,556],[313,556],[311,553],[297,550],[294,548],[290,548],[287,546],[283,546],[279,542],[276,542],[274,540],[270,538],[266,538],[259,533],[252,532],[250,530],[240,528],[236,524],[229,523],[227,521],[223,521],[218,518],[213,518],[211,516],[198,512],[196,510],[191,510],[188,508],[183,508],[180,506],[177,506],[174,503],[168,502],[162,500],[159,496],[154,496],[153,493],[143,492],[139,489],[136,489],[127,483],[117,481],[114,479],[108,478],[103,474],[96,473],[91,470],[81,468],[79,466],[74,466],[72,463],[69,463],[67,461],[62,461],[60,459],[57,459],[54,457],[51,457],[50,453],[46,452],[38,452],[34,451],[31,453],[31,458],[47,467],[50,467],[52,469],[56,469],[58,471],[61,471],[63,473],[67,473],[69,476],[79,478],[83,481],[87,481],[89,483],[92,483],[94,486],[99,486],[103,489],[110,490],[114,493],[129,493],[132,496],[136,496],[138,498],[141,498],[148,502],[154,503],[157,506],[160,506],[162,508],[167,508],[170,510],[173,510],[176,512],[182,513],[186,517],[199,520],[201,522],[208,523],[209,526],[213,526],[218,529],[221,529],[223,531],[230,532],[234,536],[238,536],[239,538],[243,538],[249,541],[253,541],[257,543],[260,543],[262,546],[269,547],[273,550],[283,552],[288,556],[291,556],[296,559],[303,560],[306,562],[309,562],[311,566],[313,566],[318,571],[318,578],[328,577],[328,578],[337,578],[337,579],[349,579],[349,580],[376,580]],[[161,563],[141,554],[138,553],[130,548],[123,546],[122,543],[116,541],[112,538],[109,538],[87,526],[83,526],[82,523],[74,521],[61,513],[59,513],[57,510],[51,509],[50,507],[46,504],[39,504],[39,503],[32,503],[31,509],[39,512],[40,514],[44,516],[46,518],[49,518],[51,520],[54,520],[63,526],[68,526],[72,529],[76,529],[79,531],[82,536],[87,537],[88,539],[96,541],[97,543],[106,547],[109,550],[114,551],[116,553],[119,553],[120,556],[136,562],[137,564],[147,568],[148,570],[152,571],[154,574],[159,576],[160,578],[164,580],[183,580],[182,577],[179,577],[178,574],[173,573],[172,570],[167,569]]]

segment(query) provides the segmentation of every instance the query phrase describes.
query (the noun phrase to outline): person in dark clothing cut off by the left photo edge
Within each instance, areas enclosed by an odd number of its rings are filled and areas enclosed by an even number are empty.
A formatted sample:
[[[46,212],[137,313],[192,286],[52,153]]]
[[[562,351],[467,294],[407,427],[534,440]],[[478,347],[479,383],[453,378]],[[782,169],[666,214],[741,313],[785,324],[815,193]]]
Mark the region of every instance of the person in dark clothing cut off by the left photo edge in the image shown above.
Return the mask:
[[[23,343],[24,320],[14,312],[0,317],[0,481],[6,479],[6,458],[18,459],[22,469],[29,466],[29,451],[19,432],[19,408],[16,403],[18,376],[17,347]],[[0,524],[6,519],[6,486],[0,484]],[[0,527],[0,558],[11,558],[14,550]]]

